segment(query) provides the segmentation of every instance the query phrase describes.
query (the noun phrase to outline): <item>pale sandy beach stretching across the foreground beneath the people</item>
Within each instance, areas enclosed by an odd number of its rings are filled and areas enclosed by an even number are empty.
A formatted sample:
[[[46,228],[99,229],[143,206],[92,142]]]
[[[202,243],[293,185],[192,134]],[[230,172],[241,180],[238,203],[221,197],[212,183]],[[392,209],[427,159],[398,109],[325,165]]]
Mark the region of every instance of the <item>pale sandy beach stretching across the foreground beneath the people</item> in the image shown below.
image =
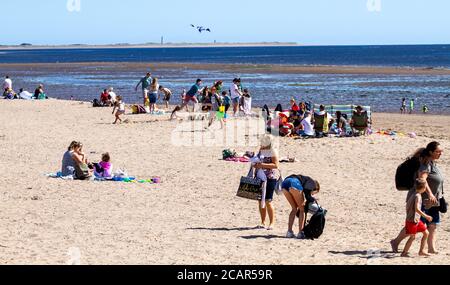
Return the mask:
[[[275,229],[255,229],[257,203],[236,197],[248,164],[222,161],[227,147],[174,145],[179,123],[167,116],[125,118],[129,123],[112,125],[111,109],[89,103],[0,100],[0,264],[66,264],[71,248],[81,264],[450,264],[447,216],[439,255],[405,259],[389,246],[405,219],[406,193],[394,185],[398,164],[437,139],[449,182],[448,116],[374,114],[376,130],[415,132],[415,139],[281,138],[280,156],[299,160],[282,164],[283,174],[309,175],[322,185],[328,217],[316,241],[284,238],[290,208],[282,196],[274,201]],[[160,176],[162,183],[47,178],[72,140],[84,143],[91,161],[108,151],[116,167],[142,179]]]

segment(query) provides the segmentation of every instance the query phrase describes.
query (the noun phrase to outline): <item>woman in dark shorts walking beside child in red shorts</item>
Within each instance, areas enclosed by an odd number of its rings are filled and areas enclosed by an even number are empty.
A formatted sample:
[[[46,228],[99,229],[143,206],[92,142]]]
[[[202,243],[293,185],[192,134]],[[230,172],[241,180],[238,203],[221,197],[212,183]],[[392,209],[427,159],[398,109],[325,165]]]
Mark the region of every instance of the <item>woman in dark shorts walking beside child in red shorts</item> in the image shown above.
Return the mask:
[[[431,216],[432,221],[429,222],[422,218],[422,222],[428,226],[428,253],[438,254],[436,249],[437,229],[441,223],[440,203],[444,203],[444,176],[437,165],[437,161],[441,158],[443,149],[438,142],[431,142],[426,148],[421,148],[414,154],[420,160],[420,167],[417,172],[419,179],[424,179],[427,182],[427,190],[422,194],[422,211]],[[408,192],[407,201],[415,194],[415,189]],[[398,252],[400,243],[407,237],[406,229],[403,228],[400,234],[391,241],[393,252]]]

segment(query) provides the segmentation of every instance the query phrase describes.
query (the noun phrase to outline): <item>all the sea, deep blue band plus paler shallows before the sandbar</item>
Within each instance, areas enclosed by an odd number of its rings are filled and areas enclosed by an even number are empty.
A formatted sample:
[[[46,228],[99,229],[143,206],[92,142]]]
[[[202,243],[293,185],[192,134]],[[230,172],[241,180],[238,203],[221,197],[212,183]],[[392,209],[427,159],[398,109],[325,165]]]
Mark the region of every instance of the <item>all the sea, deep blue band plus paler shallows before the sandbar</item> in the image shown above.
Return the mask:
[[[429,46],[329,46],[329,47],[239,47],[239,48],[152,48],[71,49],[0,51],[0,63],[70,62],[195,62],[298,65],[364,65],[450,68],[450,45]],[[128,103],[139,102],[133,87],[143,70],[116,72],[103,68],[79,68],[64,72],[8,70],[17,88],[33,89],[44,83],[54,97],[92,100],[102,89],[114,86]],[[450,113],[449,75],[352,75],[352,74],[230,74],[221,70],[160,69],[161,84],[176,94],[188,89],[196,78],[206,85],[240,76],[257,106],[288,102],[291,97],[324,104],[364,104],[375,111],[397,112],[403,97],[427,104],[432,113]],[[82,91],[80,91],[82,90]],[[176,101],[175,101],[176,100]]]

